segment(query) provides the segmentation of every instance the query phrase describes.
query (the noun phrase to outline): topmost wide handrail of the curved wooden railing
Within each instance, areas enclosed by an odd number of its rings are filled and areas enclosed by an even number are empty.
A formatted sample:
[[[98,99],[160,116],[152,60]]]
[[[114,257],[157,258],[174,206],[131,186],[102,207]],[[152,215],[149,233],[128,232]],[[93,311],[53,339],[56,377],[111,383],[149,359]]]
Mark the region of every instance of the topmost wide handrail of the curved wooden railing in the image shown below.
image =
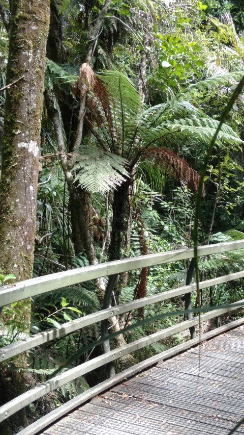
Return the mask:
[[[203,257],[204,255],[237,249],[244,249],[244,240],[199,246],[198,255],[199,257]],[[142,267],[188,260],[193,257],[194,249],[184,248],[159,252],[157,254],[140,255],[140,257],[100,263],[93,266],[80,267],[77,269],[53,273],[51,275],[38,276],[36,278],[21,281],[13,286],[4,286],[0,288],[1,306],[37,296],[39,294],[51,292],[53,290],[62,289],[67,286],[72,286],[74,284],[84,283],[91,279],[114,275],[115,273],[128,272],[134,269],[141,269]]]

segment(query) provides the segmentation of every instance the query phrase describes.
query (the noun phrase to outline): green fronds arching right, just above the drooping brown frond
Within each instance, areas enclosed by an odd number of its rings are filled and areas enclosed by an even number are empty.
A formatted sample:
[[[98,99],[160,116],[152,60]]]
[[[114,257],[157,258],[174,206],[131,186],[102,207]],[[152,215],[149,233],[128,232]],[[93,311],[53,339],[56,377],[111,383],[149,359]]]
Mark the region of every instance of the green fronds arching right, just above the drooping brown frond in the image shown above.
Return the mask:
[[[204,149],[206,143],[212,139],[219,121],[205,115],[186,101],[170,101],[158,105],[156,108],[145,111],[141,117],[138,135],[140,153],[148,145],[162,146],[177,149],[179,143],[185,146],[193,143]],[[222,141],[230,145],[242,143],[236,132],[227,124],[219,132],[217,144],[222,146]]]

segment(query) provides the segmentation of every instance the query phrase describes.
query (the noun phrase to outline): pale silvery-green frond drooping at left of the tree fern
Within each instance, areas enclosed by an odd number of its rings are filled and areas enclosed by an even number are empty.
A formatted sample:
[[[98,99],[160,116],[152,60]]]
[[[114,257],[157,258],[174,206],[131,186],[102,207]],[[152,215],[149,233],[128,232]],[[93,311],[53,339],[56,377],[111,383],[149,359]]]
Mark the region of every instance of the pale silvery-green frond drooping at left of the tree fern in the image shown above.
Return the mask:
[[[129,176],[127,161],[108,151],[94,146],[82,146],[78,163],[74,166],[75,181],[91,193],[105,193],[116,189]]]

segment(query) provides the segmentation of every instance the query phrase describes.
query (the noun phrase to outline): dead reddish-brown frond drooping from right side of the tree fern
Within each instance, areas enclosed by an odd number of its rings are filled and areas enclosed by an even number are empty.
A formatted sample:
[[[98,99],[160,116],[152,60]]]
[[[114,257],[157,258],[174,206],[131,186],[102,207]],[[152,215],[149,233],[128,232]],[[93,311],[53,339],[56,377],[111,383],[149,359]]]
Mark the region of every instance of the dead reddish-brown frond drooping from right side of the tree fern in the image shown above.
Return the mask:
[[[179,181],[180,184],[187,186],[194,193],[197,192],[200,178],[199,174],[188,165],[186,160],[177,156],[174,151],[167,148],[150,147],[145,157],[161,165],[164,171]],[[204,196],[204,188],[202,195]]]

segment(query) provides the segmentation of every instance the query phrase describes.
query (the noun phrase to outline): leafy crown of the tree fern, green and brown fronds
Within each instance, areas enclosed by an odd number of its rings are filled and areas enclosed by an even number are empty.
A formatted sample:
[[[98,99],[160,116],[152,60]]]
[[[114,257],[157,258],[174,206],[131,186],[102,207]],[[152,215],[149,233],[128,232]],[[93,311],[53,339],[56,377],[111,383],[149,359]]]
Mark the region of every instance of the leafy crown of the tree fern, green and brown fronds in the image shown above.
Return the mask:
[[[239,76],[240,73],[237,72],[235,77],[232,75],[232,80]],[[225,84],[227,79],[229,80],[229,76],[225,74],[222,83]],[[219,78],[209,80],[220,83]],[[210,86],[210,82],[204,86]],[[73,92],[75,96],[78,93],[81,97],[87,95],[89,144],[82,144],[73,170],[76,172],[75,181],[89,192],[104,193],[123,184],[128,176],[125,159],[129,161],[130,168],[140,158],[144,159],[146,156],[149,160],[150,146],[163,147],[163,169],[175,175],[175,170],[172,171],[172,159],[169,162],[164,149],[176,151],[182,143],[185,147],[197,144],[204,151],[219,124],[217,120],[184,100],[183,95],[179,99],[144,110],[132,82],[118,71],[105,71],[95,75],[92,68],[83,64]],[[222,142],[230,145],[242,143],[226,124],[222,126],[217,139],[220,146]],[[177,159],[175,177],[196,191],[198,174],[194,169],[186,171],[187,164],[183,165],[182,158],[176,156],[175,163]],[[167,169],[168,163],[170,165]],[[190,178],[187,179],[188,176]]]

